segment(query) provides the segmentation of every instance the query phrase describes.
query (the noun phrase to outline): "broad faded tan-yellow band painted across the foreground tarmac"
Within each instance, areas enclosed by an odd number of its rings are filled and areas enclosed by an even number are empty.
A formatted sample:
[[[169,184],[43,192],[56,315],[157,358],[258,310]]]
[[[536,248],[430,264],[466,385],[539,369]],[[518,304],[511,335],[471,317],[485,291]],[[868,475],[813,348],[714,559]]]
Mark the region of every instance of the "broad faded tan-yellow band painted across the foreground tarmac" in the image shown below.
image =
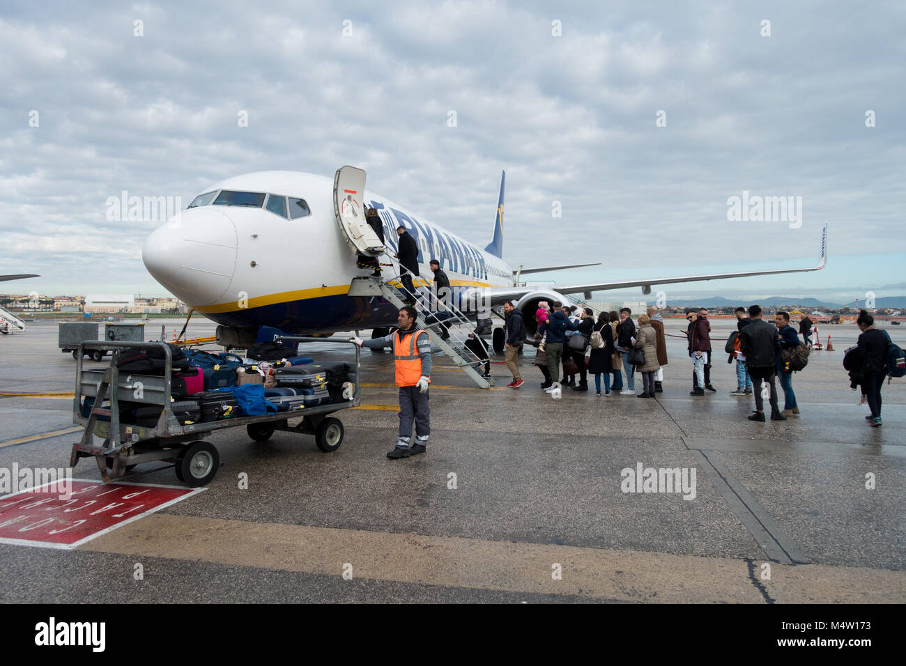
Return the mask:
[[[152,514],[99,536],[79,550],[323,574],[336,576],[337,580],[346,573],[358,579],[402,584],[578,595],[613,601],[766,601],[752,584],[749,562],[730,557],[255,523],[204,516]],[[903,571],[771,563],[771,578],[761,584],[779,603],[906,602],[906,572]]]

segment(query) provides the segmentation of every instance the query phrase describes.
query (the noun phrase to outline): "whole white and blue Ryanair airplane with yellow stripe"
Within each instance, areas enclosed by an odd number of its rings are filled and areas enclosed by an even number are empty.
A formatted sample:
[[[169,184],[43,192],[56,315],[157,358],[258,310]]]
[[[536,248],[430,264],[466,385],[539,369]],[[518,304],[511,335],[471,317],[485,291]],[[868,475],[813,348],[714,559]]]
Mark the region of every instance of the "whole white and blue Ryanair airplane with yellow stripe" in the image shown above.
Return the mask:
[[[718,280],[748,275],[800,273],[824,268],[827,227],[818,265],[807,268],[745,271],[712,275],[639,278],[619,282],[546,288],[519,284],[529,273],[578,265],[517,269],[504,261],[503,219],[506,173],[500,181],[494,234],[484,248],[457,236],[390,199],[365,189],[365,172],[343,167],[333,179],[297,171],[259,171],[211,185],[186,210],[145,241],[141,255],[149,273],[171,294],[219,324],[217,342],[246,347],[259,327],[286,333],[335,333],[373,329],[386,334],[397,310],[381,297],[350,296],[355,277],[371,269],[357,267],[357,255],[381,256],[394,275],[399,263],[396,228],[406,227],[419,247],[419,291],[430,289],[429,261],[439,260],[455,301],[480,290],[493,307],[506,300],[534,314],[540,301],[566,302],[567,294],[585,294],[640,286]],[[364,208],[376,208],[383,222],[385,246],[364,224]],[[384,254],[386,250],[386,254]],[[385,276],[388,275],[385,269]],[[525,317],[534,333],[534,317]],[[494,333],[503,348],[503,333]]]

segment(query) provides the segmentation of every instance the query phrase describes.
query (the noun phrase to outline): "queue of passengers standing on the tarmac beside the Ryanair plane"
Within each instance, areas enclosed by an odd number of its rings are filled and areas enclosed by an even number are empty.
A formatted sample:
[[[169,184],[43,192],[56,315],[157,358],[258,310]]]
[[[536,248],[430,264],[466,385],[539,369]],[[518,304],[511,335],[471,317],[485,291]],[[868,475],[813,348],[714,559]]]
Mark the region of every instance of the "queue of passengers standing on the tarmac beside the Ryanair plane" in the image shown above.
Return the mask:
[[[619,312],[602,312],[595,320],[593,311],[587,307],[580,309],[558,301],[550,304],[542,301],[532,314],[537,324],[534,339],[527,337],[524,315],[512,302],[504,305],[504,312],[506,367],[513,374],[513,381],[507,384],[510,388],[518,389],[525,383],[516,364],[519,348],[525,342],[537,349],[535,365],[544,375],[541,388],[545,392],[561,391],[563,385],[572,386],[573,391],[588,391],[588,376],[593,375],[598,397],[610,397],[616,392],[635,395],[635,372],[640,372],[642,379],[639,398],[653,398],[655,393],[663,391],[662,367],[667,364],[667,345],[663,319],[654,305],[648,308],[647,314],[639,315],[637,325],[633,323],[628,307]],[[736,361],[737,389],[730,391],[730,395],[754,395],[756,409],[749,420],[766,420],[765,399],[771,407],[771,420],[798,416],[800,411],[793,390],[794,371],[789,362],[784,361],[784,351],[804,343],[790,325],[790,315],[783,310],[777,311],[774,323],[767,323],[761,307],[752,305],[748,310],[737,307],[736,317],[737,333],[731,335],[725,346],[729,352],[728,362]],[[689,310],[686,319],[689,324],[685,333],[692,363],[690,395],[700,397],[707,395],[705,391],[717,391],[710,378],[713,350],[708,309]],[[878,427],[882,424],[881,387],[886,376],[884,352],[890,338],[874,328],[872,316],[864,310],[857,323],[862,334],[856,348],[862,350],[864,361],[857,363],[851,377],[854,387],[862,386],[863,402],[871,409],[866,420],[872,427]],[[486,366],[486,378],[488,370],[489,365]],[[576,376],[578,381],[575,381]],[[780,381],[784,392],[783,410],[779,408],[775,379]],[[754,391],[756,386],[758,390]]]

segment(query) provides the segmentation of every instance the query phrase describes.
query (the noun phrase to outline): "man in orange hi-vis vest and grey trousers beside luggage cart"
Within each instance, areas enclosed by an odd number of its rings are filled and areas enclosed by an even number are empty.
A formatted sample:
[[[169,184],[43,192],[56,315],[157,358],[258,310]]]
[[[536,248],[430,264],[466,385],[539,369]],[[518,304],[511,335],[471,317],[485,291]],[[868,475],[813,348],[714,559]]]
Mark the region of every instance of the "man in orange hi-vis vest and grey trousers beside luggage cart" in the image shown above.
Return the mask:
[[[400,328],[390,335],[372,340],[352,338],[352,342],[369,349],[393,348],[396,384],[400,387],[400,436],[387,458],[409,458],[424,453],[431,432],[428,387],[431,382],[431,339],[416,323],[418,314],[411,305],[400,309]],[[415,443],[412,443],[412,421],[415,421]]]

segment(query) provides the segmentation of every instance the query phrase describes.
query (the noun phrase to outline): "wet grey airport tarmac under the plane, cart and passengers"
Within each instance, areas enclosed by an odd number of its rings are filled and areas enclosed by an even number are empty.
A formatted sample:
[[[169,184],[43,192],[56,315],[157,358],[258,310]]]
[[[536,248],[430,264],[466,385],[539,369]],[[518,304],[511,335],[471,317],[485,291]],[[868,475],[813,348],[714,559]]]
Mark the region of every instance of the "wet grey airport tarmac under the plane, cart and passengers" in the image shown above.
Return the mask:
[[[214,328],[192,322],[188,336]],[[593,390],[553,400],[534,349],[522,388],[505,387],[497,357],[496,387],[481,390],[438,354],[428,452],[393,461],[392,361],[366,350],[362,406],[336,415],[340,449],[218,430],[206,439],[222,466],[203,492],[74,550],[0,544],[0,602],[906,602],[906,380],[884,386],[884,425],[870,428],[842,365],[858,330],[819,328],[835,351],[812,352],[795,374],[802,413],[783,422],[750,422],[751,397],[729,395],[733,320],[712,320],[718,392],[701,398],[689,395],[684,336],[668,338],[657,400]],[[906,332],[889,332],[906,347]],[[352,354],[330,340],[304,352]],[[66,467],[80,433],[57,324],[3,336],[0,358],[0,468]],[[623,470],[639,464],[695,470],[694,498],[623,492]],[[92,459],[73,476],[100,479]],[[160,462],[123,481],[179,485]]]

